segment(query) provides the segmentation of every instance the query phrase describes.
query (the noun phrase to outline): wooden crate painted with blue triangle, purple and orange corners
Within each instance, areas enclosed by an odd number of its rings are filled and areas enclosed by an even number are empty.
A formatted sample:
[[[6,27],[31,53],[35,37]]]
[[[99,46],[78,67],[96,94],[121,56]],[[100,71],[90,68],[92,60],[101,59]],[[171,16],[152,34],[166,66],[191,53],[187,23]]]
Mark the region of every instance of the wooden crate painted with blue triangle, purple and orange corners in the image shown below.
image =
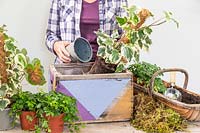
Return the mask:
[[[52,88],[77,99],[82,121],[127,121],[132,116],[131,73],[87,74],[92,63],[51,65]]]

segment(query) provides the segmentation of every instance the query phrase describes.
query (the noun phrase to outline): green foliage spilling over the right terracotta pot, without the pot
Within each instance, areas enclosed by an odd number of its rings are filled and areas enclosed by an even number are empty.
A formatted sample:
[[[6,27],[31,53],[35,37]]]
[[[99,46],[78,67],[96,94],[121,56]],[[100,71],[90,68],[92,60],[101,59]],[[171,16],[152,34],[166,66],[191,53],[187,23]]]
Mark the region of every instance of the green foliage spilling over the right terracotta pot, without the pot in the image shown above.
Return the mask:
[[[50,91],[49,93],[38,93],[37,115],[40,118],[41,128],[50,132],[48,120],[45,116],[58,116],[64,113],[64,122],[70,132],[79,132],[81,124],[75,124],[79,120],[76,99],[66,96],[60,92]],[[39,128],[39,129],[41,129]]]

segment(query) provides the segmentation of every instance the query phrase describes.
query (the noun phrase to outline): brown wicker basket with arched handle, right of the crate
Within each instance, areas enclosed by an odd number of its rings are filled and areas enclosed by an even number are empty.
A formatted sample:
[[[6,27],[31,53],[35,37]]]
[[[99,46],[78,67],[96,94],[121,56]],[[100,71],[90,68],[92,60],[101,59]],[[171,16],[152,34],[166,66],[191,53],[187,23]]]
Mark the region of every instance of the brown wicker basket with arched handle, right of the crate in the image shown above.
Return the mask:
[[[178,100],[173,100],[171,98],[168,98],[164,96],[163,94],[156,93],[152,89],[154,87],[155,78],[159,74],[164,73],[164,72],[173,72],[173,71],[179,71],[181,73],[184,73],[185,75],[183,88],[175,86],[175,88],[179,90],[182,94],[181,102]],[[166,81],[163,81],[163,82],[165,83],[166,87],[171,86],[169,82],[166,82]],[[153,96],[157,100],[161,101],[166,106],[178,112],[185,119],[190,120],[190,121],[200,121],[200,95],[194,92],[188,91],[186,89],[187,84],[188,84],[188,73],[184,69],[171,68],[171,69],[159,70],[156,73],[154,73],[150,80],[149,88],[144,88],[143,86],[138,85],[136,83],[133,83],[133,86],[135,90],[143,91],[149,94],[150,96]]]

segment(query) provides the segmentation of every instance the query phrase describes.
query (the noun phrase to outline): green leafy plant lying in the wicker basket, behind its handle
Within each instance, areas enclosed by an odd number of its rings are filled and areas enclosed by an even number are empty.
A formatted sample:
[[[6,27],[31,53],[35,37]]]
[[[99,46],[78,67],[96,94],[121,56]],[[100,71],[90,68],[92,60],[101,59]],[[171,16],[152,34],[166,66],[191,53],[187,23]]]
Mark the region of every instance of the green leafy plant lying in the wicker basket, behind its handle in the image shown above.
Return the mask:
[[[137,83],[144,85],[144,87],[149,87],[151,77],[160,69],[161,68],[156,64],[152,65],[147,62],[136,63],[128,68],[128,70],[131,71],[135,77],[137,77]],[[166,87],[159,77],[155,79],[154,91],[159,93],[164,93],[166,91]]]

